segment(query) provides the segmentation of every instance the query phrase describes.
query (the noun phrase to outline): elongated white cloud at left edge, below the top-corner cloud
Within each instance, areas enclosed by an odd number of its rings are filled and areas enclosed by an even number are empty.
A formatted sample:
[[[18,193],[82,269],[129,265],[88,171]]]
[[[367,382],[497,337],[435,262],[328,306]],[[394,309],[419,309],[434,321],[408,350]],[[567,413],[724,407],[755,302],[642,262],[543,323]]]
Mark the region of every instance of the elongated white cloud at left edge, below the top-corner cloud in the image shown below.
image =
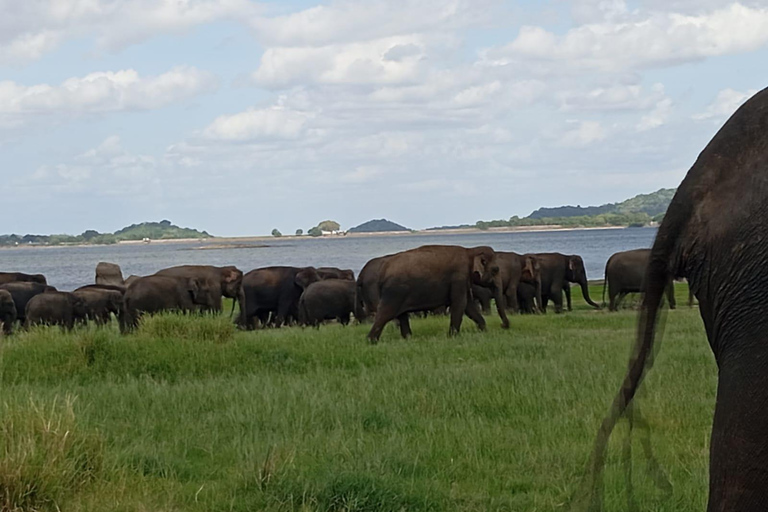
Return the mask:
[[[217,87],[210,73],[176,67],[142,77],[133,69],[90,73],[60,85],[0,82],[0,121],[23,123],[37,116],[149,110],[192,98]]]

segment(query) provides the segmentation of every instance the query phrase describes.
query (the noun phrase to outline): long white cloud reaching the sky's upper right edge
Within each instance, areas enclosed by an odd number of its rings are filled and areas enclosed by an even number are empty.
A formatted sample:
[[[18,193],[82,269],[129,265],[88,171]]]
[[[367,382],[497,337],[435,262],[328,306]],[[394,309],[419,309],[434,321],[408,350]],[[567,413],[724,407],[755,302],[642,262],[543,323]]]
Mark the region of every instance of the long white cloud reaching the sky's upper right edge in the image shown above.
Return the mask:
[[[704,14],[651,12],[619,22],[581,25],[557,35],[526,26],[517,38],[482,53],[489,66],[541,72],[660,67],[755,50],[768,42],[768,8],[731,4]]]

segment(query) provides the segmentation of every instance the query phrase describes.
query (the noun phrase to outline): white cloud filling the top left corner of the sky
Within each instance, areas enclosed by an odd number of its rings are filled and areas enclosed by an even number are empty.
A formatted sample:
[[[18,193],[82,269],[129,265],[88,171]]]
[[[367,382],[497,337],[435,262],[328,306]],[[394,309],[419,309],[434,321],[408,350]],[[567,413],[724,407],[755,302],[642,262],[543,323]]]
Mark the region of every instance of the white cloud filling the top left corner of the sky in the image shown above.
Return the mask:
[[[0,0],[0,64],[40,58],[63,41],[115,50],[158,34],[257,14],[249,0]]]

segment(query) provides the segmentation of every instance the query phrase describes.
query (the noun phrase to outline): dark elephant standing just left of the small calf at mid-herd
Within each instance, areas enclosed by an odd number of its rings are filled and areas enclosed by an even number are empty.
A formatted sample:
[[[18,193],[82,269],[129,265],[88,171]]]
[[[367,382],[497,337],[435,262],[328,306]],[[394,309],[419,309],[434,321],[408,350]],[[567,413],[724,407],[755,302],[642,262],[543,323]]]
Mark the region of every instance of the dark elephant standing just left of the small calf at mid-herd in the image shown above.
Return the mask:
[[[242,326],[252,329],[258,318],[266,325],[270,313],[275,327],[291,318],[298,319],[299,299],[304,290],[320,275],[314,267],[264,267],[251,270],[243,277],[247,310]]]

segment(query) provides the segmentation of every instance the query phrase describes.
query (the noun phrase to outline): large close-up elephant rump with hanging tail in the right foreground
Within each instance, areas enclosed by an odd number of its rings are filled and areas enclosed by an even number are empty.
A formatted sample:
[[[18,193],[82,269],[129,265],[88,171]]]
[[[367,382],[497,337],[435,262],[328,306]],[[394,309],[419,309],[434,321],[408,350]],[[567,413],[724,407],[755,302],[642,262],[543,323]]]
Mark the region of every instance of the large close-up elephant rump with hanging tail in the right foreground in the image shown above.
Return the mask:
[[[603,420],[590,466],[599,506],[605,450],[653,364],[661,302],[686,278],[718,367],[707,510],[758,512],[768,503],[768,89],[747,100],[677,189],[651,248],[637,338]]]

